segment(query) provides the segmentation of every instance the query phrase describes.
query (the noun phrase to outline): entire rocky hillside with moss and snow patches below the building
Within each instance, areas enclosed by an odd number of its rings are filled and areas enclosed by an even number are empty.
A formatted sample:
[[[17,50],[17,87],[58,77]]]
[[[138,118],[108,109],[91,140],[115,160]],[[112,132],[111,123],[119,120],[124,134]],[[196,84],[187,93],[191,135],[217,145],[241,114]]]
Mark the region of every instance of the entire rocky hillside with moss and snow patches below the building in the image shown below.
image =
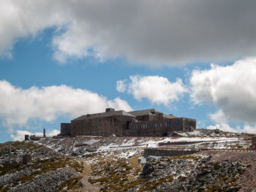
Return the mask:
[[[11,155],[7,142],[0,145],[0,191],[253,191],[255,152],[143,157],[145,147],[159,147],[160,143],[177,149],[246,149],[251,145],[248,136],[202,133],[45,138],[12,142]],[[29,164],[22,163],[25,154],[31,156]]]

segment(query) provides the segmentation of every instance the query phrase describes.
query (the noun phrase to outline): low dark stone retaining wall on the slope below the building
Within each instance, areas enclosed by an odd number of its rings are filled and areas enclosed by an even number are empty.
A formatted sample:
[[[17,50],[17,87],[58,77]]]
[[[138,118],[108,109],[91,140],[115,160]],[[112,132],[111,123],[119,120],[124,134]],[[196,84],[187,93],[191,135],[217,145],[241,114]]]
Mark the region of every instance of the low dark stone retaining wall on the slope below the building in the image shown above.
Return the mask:
[[[154,156],[176,156],[176,155],[188,155],[197,153],[197,150],[163,150],[163,149],[145,149],[144,157],[148,157],[148,155]]]

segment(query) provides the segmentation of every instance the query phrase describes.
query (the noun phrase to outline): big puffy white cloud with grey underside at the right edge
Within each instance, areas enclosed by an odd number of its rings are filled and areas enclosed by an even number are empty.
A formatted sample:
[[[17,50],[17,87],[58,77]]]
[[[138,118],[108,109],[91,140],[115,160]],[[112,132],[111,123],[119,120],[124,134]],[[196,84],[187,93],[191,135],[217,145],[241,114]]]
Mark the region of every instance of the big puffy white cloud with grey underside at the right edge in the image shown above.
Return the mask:
[[[256,123],[256,58],[244,58],[230,66],[211,65],[194,70],[190,83],[196,104],[213,102],[219,112],[212,118]],[[218,121],[218,120],[217,120]]]

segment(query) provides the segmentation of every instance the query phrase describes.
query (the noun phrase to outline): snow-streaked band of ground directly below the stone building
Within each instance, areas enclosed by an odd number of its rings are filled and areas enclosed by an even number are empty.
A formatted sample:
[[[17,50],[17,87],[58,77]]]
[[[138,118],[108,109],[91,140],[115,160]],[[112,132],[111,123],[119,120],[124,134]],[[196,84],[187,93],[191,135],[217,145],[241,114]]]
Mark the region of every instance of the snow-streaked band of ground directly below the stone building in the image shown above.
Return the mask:
[[[188,145],[165,145],[162,147],[195,147],[195,148],[229,148],[230,145],[240,145],[246,142],[238,137],[204,137],[200,131],[189,132],[194,137],[66,137],[62,139],[45,138],[37,141],[63,154],[77,153],[86,155],[91,153],[120,153],[120,158],[127,158],[136,152],[142,152],[145,147],[159,147],[159,142],[198,142]],[[200,136],[199,136],[200,135]],[[80,146],[79,146],[80,145]],[[243,144],[241,144],[243,145]],[[231,146],[232,147],[232,146]],[[94,152],[93,152],[94,151]]]

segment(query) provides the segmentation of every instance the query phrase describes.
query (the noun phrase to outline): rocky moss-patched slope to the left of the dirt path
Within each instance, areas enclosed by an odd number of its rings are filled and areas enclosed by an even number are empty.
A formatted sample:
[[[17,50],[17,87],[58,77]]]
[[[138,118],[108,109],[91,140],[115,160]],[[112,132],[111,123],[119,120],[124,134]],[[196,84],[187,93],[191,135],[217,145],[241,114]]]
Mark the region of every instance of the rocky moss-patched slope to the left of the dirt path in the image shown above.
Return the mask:
[[[67,191],[80,188],[83,164],[34,142],[0,145],[0,191]],[[23,164],[23,155],[29,164]]]

